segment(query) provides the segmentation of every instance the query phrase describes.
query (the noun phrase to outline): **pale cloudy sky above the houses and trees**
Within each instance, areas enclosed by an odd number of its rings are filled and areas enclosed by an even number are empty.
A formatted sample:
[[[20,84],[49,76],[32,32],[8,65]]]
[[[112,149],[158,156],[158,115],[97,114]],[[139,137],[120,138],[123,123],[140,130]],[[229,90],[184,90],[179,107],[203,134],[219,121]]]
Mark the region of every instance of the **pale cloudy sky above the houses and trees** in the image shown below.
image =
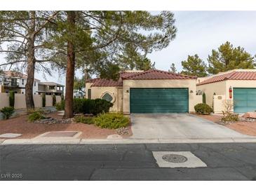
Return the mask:
[[[156,12],[153,12],[156,13]],[[156,69],[168,70],[175,63],[181,71],[182,60],[187,55],[198,54],[207,62],[211,50],[230,41],[234,46],[242,46],[252,55],[256,54],[256,11],[174,11],[177,36],[170,45],[149,58],[156,62]],[[81,73],[76,72],[76,76]],[[65,84],[65,76],[35,74],[41,81],[55,81]]]

